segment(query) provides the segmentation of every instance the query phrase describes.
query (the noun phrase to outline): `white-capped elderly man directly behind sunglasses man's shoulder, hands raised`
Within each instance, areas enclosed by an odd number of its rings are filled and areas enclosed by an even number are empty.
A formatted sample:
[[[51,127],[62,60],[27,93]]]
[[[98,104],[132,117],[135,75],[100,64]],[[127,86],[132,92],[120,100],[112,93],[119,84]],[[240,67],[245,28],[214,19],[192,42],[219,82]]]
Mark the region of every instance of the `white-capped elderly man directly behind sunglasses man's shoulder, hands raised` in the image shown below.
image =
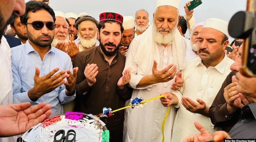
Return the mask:
[[[71,35],[68,35],[68,22],[66,21],[65,14],[61,11],[54,11],[54,13],[56,27],[51,45],[67,52],[73,62],[76,54],[79,52],[78,47],[74,41],[69,40]]]

